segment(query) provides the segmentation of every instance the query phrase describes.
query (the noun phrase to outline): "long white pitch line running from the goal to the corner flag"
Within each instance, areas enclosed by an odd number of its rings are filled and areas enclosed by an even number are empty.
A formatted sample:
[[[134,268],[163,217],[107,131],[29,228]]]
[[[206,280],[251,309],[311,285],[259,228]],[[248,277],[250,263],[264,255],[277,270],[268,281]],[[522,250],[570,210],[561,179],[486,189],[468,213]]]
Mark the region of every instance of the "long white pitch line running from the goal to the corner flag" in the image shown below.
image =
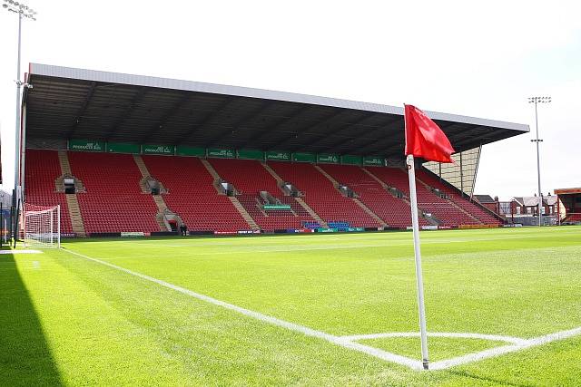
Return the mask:
[[[239,314],[243,314],[243,315],[252,317],[252,318],[259,320],[261,322],[264,322],[264,323],[281,326],[283,328],[289,329],[290,331],[299,332],[300,334],[305,334],[307,336],[317,337],[317,338],[325,340],[327,342],[340,345],[344,348],[349,348],[351,350],[359,351],[361,353],[367,353],[371,356],[374,356],[376,358],[379,358],[379,359],[387,361],[387,362],[406,365],[409,368],[412,368],[414,370],[421,370],[422,369],[421,362],[419,362],[418,360],[410,359],[409,357],[401,356],[401,355],[396,354],[396,353],[389,353],[387,351],[383,351],[383,350],[380,350],[378,348],[369,347],[367,345],[363,345],[360,343],[353,343],[353,342],[346,340],[340,336],[335,336],[333,334],[327,334],[325,332],[311,329],[307,326],[303,326],[300,324],[294,324],[294,323],[291,323],[288,321],[278,319],[276,317],[272,317],[271,315],[268,315],[268,314],[261,314],[259,312],[251,311],[250,309],[243,308],[241,306],[228,304],[224,301],[218,300],[218,299],[213,298],[209,295],[202,295],[200,293],[192,292],[192,290],[186,289],[182,286],[173,285],[173,284],[170,284],[169,282],[162,281],[161,279],[154,278],[153,276],[146,276],[144,274],[134,272],[133,270],[129,270],[127,268],[124,268],[122,266],[117,266],[117,265],[113,265],[112,263],[102,261],[101,259],[97,259],[97,258],[94,258],[92,256],[85,256],[84,254],[80,254],[80,253],[77,253],[75,251],[66,250],[66,249],[64,249],[64,251],[66,251],[70,254],[73,254],[74,256],[80,256],[84,259],[88,259],[90,261],[101,264],[103,266],[109,266],[115,270],[122,271],[123,273],[129,274],[131,276],[137,276],[137,277],[142,278],[146,281],[150,281],[150,282],[153,282],[155,284],[162,285],[162,286],[167,287],[169,289],[175,290],[176,292],[180,292],[184,295],[190,295],[193,298],[197,298],[197,299],[202,300],[204,302],[207,302],[209,304],[222,306],[225,309],[229,309],[229,310],[232,310],[234,312],[238,312]]]

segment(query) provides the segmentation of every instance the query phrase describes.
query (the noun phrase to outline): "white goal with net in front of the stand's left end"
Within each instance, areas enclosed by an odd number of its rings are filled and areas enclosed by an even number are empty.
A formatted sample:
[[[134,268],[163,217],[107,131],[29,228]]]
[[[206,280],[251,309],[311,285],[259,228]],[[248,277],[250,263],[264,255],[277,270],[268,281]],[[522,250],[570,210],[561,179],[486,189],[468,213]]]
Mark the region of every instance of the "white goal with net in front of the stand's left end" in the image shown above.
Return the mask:
[[[61,206],[25,203],[25,246],[61,247]]]

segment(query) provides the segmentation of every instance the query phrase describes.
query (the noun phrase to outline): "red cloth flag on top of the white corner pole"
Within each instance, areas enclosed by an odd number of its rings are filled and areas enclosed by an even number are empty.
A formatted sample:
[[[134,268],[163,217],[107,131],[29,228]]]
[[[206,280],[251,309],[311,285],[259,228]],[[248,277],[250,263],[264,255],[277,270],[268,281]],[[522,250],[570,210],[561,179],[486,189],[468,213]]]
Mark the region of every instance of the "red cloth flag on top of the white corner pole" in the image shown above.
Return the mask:
[[[455,150],[436,122],[413,105],[405,107],[406,155],[428,161],[454,162],[450,155]]]

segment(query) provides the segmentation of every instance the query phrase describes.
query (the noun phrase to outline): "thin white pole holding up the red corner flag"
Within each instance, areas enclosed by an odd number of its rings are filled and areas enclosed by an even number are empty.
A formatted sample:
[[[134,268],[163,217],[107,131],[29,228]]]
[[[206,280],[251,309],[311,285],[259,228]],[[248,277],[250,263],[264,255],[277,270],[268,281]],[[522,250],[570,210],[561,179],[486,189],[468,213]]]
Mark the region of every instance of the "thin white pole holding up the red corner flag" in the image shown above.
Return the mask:
[[[405,121],[405,119],[404,119]],[[426,331],[426,308],[424,306],[424,280],[421,273],[421,250],[419,248],[418,197],[416,195],[416,170],[413,155],[406,159],[409,177],[409,199],[411,201],[411,226],[414,231],[414,253],[416,255],[416,282],[418,285],[419,334],[421,357],[424,370],[428,370],[428,332]]]

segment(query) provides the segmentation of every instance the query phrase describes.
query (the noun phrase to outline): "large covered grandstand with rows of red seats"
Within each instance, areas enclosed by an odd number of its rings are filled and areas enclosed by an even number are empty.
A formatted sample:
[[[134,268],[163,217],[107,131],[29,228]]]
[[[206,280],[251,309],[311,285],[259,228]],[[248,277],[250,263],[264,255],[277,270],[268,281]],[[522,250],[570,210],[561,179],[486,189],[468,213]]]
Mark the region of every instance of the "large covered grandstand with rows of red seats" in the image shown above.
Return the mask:
[[[26,76],[20,185],[61,205],[67,236],[411,225],[399,107],[35,63]],[[419,160],[420,226],[497,227],[471,199],[479,154],[527,125],[428,115],[460,178]]]

